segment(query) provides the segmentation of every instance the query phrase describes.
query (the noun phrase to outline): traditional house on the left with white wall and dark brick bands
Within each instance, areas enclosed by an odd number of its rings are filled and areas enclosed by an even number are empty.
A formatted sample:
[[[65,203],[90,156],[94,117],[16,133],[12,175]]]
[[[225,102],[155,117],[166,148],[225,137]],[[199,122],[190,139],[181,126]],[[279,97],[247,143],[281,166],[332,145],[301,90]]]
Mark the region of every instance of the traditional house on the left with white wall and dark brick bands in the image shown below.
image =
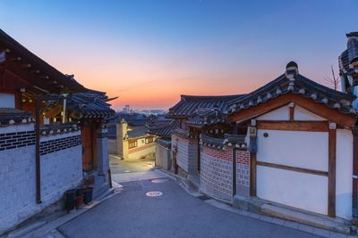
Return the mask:
[[[104,174],[95,191],[108,187],[102,124],[113,111],[105,94],[89,94],[0,30],[0,234],[83,185],[88,160],[97,160],[91,168]],[[96,132],[86,129],[92,122]],[[87,131],[93,144],[82,144]],[[97,157],[86,159],[90,152]]]

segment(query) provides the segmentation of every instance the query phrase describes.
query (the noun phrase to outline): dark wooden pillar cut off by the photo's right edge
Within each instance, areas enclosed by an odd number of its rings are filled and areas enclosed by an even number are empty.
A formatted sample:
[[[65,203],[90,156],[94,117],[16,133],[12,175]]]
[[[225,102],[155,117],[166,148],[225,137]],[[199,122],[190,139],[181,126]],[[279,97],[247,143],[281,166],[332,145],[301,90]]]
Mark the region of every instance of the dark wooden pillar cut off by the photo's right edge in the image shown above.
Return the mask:
[[[353,209],[353,216],[358,217],[358,127],[352,129],[352,134],[353,134],[352,209]]]

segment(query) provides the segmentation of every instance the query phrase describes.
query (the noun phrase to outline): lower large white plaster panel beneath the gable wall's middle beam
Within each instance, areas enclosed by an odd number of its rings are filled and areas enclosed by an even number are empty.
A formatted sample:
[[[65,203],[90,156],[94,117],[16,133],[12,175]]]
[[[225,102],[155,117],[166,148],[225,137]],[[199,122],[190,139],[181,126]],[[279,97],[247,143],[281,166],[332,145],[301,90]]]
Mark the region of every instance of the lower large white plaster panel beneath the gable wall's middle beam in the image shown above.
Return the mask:
[[[257,196],[327,215],[328,177],[258,166]]]

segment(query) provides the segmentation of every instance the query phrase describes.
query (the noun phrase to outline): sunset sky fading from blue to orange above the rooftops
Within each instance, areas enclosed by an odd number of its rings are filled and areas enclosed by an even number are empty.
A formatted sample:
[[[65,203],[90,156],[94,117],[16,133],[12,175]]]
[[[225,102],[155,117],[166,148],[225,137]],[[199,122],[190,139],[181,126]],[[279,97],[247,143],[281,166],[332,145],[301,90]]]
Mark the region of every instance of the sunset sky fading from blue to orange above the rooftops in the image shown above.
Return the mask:
[[[116,110],[244,94],[298,63],[325,84],[357,0],[0,0],[0,28]]]

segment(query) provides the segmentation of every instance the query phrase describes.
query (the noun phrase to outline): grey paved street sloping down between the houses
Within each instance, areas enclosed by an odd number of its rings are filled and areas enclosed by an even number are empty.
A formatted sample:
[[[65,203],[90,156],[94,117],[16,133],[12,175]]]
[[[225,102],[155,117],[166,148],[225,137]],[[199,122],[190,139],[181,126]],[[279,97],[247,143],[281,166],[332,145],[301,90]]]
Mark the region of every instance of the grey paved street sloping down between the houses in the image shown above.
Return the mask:
[[[148,173],[145,163],[111,160],[114,176]],[[141,169],[143,168],[143,169]],[[117,170],[116,170],[117,169]],[[122,170],[121,170],[122,169]],[[164,175],[158,173],[158,177]],[[124,177],[124,176],[123,176]],[[157,182],[157,183],[153,183]],[[161,182],[161,183],[158,183]],[[186,193],[175,181],[139,180],[121,183],[121,193],[58,228],[67,237],[319,237],[286,226],[218,209]],[[155,191],[162,196],[149,197]]]

